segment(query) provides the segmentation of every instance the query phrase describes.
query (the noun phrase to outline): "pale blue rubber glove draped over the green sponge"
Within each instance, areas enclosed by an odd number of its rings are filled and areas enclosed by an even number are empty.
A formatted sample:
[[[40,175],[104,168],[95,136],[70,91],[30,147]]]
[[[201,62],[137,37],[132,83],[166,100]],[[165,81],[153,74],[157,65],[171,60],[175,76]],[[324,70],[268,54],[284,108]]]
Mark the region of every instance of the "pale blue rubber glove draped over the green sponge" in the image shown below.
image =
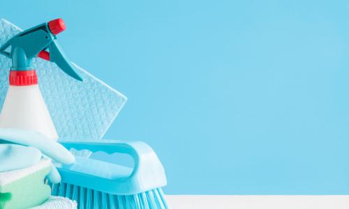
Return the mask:
[[[0,172],[30,167],[41,159],[50,157],[61,164],[72,164],[75,157],[64,146],[43,134],[30,130],[0,128]],[[61,176],[51,166],[47,178],[59,183]]]

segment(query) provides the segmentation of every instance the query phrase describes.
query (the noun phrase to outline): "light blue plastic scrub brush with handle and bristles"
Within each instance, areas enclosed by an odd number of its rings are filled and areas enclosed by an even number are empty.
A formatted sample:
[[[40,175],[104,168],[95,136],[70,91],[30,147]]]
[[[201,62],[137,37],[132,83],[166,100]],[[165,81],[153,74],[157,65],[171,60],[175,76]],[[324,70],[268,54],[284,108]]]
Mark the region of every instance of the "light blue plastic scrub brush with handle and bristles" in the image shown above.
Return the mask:
[[[75,163],[57,167],[61,183],[52,185],[52,195],[73,199],[84,209],[168,208],[161,189],[167,183],[165,171],[147,144],[112,140],[61,144],[75,151]],[[131,155],[133,169],[111,163],[111,155],[89,157],[100,151]]]

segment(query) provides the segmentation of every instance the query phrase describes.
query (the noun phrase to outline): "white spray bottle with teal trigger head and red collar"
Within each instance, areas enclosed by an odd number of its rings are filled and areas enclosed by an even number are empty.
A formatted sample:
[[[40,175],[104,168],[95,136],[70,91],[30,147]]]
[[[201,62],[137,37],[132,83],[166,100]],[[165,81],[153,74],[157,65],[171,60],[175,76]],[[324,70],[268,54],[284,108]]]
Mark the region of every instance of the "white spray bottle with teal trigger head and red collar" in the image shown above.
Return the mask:
[[[0,47],[0,54],[12,59],[10,86],[0,114],[0,127],[34,130],[50,139],[58,139],[38,87],[33,59],[39,56],[52,61],[67,75],[82,81],[57,42],[56,35],[65,29],[62,19],[52,20],[18,33]]]

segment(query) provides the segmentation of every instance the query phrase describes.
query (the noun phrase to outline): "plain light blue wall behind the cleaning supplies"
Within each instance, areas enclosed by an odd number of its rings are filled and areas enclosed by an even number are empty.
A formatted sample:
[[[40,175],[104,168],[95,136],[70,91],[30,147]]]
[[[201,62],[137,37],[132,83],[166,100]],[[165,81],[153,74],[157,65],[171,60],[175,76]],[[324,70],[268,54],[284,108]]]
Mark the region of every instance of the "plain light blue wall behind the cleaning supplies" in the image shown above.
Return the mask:
[[[168,194],[349,194],[348,1],[4,1],[63,17],[78,65],[128,96]]]

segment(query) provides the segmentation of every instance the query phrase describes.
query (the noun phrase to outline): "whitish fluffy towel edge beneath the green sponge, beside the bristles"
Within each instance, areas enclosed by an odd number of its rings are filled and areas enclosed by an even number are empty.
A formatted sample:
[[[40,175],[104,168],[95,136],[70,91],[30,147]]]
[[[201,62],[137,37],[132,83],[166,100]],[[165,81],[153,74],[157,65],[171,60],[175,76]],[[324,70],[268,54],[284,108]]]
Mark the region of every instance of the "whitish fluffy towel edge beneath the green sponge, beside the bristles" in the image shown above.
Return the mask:
[[[66,197],[50,196],[50,199],[45,201],[41,206],[36,206],[31,209],[76,209],[76,201],[71,201]]]

